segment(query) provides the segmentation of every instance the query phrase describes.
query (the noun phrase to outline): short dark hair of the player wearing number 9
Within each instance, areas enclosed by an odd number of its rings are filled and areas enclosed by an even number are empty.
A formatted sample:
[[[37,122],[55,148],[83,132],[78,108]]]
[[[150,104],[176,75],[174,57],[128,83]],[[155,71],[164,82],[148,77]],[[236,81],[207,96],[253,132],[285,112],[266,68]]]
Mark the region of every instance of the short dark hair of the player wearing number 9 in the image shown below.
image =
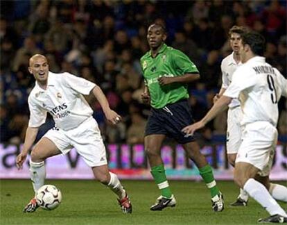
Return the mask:
[[[255,31],[243,33],[241,35],[242,44],[248,44],[251,51],[256,56],[263,56],[265,50],[265,38]]]

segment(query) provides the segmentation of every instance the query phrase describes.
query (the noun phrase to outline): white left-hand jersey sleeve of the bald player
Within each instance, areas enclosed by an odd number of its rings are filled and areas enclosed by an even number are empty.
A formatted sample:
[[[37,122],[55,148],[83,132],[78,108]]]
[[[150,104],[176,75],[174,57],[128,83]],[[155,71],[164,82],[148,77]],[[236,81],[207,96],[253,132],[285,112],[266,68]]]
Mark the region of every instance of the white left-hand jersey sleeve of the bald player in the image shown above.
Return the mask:
[[[28,126],[30,127],[39,127],[46,122],[46,110],[38,106],[33,99],[28,99],[28,106],[30,110],[30,118]]]

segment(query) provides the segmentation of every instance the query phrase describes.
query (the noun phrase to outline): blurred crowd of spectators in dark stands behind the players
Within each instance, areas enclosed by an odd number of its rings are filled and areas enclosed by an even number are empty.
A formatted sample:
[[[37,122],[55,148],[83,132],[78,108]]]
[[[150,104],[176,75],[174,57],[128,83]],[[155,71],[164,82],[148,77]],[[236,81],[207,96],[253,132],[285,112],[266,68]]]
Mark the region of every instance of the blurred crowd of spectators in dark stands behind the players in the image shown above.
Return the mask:
[[[190,85],[194,119],[212,106],[221,85],[220,62],[231,53],[228,31],[247,26],[266,38],[266,59],[286,77],[286,1],[31,0],[2,1],[1,142],[21,143],[28,124],[27,97],[35,80],[28,59],[44,54],[51,72],[70,72],[101,86],[119,126],[105,123],[96,99],[87,97],[105,141],[143,142],[149,106],[141,103],[139,58],[149,50],[148,25],[166,26],[167,44],[191,58],[200,81]],[[279,102],[279,134],[287,135],[286,99]],[[202,140],[224,135],[226,113],[202,131]],[[51,116],[39,137],[53,126]]]

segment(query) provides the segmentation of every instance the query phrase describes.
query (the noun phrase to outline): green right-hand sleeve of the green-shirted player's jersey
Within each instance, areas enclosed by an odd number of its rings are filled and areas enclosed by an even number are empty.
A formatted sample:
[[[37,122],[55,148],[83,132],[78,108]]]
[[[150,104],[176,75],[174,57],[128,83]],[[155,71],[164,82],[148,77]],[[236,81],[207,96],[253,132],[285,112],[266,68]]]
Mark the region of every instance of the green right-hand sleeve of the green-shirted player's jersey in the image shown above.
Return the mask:
[[[186,54],[184,54],[182,51],[176,49],[173,50],[173,63],[177,69],[182,71],[182,75],[188,73],[199,73],[195,64],[191,62],[189,57],[186,56]]]

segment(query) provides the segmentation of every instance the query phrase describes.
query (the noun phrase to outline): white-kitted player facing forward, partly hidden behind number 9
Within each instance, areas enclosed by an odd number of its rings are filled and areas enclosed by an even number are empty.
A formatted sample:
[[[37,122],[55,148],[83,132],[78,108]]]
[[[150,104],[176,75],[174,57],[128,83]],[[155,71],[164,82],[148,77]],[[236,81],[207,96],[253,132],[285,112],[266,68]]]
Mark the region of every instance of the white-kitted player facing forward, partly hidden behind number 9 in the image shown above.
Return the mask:
[[[239,44],[241,42],[241,34],[247,32],[247,28],[243,26],[233,26],[229,30],[229,39],[230,46],[232,47],[233,52],[223,59],[221,63],[221,71],[223,74],[223,85],[220,89],[220,92],[214,97],[214,103],[223,95],[225,90],[228,88],[232,82],[232,77],[235,70],[242,65],[241,56],[239,54]],[[234,167],[237,151],[241,144],[242,128],[241,128],[241,119],[242,111],[240,107],[240,102],[238,99],[232,99],[231,103],[228,105],[228,116],[227,116],[227,158]],[[270,158],[270,163],[272,163],[272,157]],[[260,181],[266,188],[270,191],[270,194],[275,199],[281,201],[287,201],[287,189],[286,187],[270,183],[268,179],[268,172],[265,171],[259,172],[256,175],[256,180]],[[238,195],[236,201],[230,204],[230,206],[247,206],[248,194],[242,188],[240,189],[240,194]]]

